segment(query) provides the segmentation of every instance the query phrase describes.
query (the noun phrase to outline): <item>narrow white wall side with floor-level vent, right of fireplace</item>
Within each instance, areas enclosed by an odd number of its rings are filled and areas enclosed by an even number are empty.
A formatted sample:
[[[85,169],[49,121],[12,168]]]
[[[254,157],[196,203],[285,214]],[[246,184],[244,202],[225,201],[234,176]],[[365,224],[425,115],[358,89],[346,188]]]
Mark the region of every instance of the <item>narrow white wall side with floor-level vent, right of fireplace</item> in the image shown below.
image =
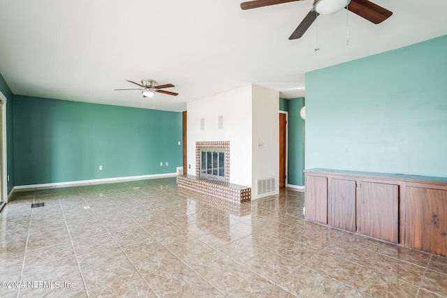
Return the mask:
[[[275,177],[277,181],[275,193],[279,193],[279,92],[253,85],[252,114],[251,197],[257,199],[265,196],[256,197],[255,188],[258,179]]]

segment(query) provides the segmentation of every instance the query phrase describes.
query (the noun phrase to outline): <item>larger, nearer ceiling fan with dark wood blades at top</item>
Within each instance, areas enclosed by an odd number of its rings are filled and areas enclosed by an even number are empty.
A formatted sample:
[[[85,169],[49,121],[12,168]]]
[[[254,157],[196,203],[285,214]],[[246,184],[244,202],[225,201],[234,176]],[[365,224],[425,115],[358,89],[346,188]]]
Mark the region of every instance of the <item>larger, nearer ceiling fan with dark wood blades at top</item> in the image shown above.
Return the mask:
[[[253,0],[240,3],[240,8],[245,10],[293,1],[301,0]],[[393,15],[390,10],[386,10],[368,0],[314,0],[312,9],[288,39],[300,38],[309,29],[318,15],[333,15],[343,8],[360,15],[360,17],[374,24],[379,24]]]

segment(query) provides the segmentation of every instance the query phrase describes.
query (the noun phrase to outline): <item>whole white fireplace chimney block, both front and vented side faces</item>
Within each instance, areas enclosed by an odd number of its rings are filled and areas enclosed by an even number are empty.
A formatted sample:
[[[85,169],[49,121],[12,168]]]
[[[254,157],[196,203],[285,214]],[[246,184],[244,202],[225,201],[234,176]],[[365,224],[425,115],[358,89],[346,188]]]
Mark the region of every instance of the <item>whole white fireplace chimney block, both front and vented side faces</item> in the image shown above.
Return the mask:
[[[196,142],[229,141],[230,183],[251,187],[251,198],[257,199],[265,195],[256,196],[256,181],[274,177],[279,193],[278,91],[247,85],[194,100],[187,109],[188,174],[196,175]],[[205,119],[203,131],[200,119]]]

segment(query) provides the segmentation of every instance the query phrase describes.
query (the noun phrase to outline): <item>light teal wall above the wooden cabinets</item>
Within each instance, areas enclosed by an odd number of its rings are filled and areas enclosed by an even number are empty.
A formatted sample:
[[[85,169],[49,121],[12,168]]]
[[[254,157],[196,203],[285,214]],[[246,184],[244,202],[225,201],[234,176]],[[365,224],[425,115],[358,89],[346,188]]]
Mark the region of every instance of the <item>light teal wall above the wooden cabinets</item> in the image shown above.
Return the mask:
[[[447,177],[447,36],[306,73],[306,168]]]

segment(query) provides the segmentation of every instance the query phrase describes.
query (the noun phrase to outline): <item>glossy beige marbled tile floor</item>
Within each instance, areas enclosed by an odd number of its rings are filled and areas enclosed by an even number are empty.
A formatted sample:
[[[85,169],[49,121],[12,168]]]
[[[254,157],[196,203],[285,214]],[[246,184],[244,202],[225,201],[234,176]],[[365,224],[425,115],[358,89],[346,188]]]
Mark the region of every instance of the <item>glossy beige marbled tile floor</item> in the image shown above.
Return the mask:
[[[0,297],[447,297],[446,258],[305,222],[303,197],[228,204],[175,178],[16,193]]]

